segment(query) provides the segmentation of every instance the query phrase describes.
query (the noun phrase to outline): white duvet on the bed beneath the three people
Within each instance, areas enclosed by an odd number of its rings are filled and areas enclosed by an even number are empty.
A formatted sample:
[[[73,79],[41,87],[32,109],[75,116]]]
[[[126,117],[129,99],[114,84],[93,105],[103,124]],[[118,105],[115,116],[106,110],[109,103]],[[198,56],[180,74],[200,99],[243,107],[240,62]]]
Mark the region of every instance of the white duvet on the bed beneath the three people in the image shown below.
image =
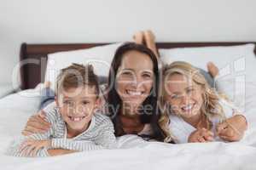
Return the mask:
[[[47,158],[5,156],[4,151],[37,111],[37,90],[0,99],[0,169],[256,169],[256,85],[247,83],[245,106],[249,129],[237,143],[164,144],[134,135],[118,139],[119,150],[96,150]],[[26,96],[25,96],[26,94]],[[27,95],[29,94],[29,96]],[[241,98],[237,98],[241,99]]]

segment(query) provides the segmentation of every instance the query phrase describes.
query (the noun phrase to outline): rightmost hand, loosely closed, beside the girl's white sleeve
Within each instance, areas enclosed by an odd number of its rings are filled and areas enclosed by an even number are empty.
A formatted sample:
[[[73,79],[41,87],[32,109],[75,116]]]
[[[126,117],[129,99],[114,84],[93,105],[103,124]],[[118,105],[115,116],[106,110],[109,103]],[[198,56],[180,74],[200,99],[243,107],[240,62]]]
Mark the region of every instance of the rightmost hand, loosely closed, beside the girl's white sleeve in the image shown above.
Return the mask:
[[[247,120],[244,116],[236,115],[219,123],[216,127],[218,137],[226,141],[234,142],[242,139],[247,129]]]

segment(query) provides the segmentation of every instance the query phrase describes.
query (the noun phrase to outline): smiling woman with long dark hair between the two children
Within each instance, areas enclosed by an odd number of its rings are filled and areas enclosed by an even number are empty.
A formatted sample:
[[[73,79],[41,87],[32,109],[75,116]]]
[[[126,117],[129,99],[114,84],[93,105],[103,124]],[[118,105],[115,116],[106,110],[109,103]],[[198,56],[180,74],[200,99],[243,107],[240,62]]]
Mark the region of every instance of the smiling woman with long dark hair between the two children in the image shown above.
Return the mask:
[[[142,44],[127,43],[113,57],[105,95],[108,114],[112,117],[115,134],[137,134],[162,141],[157,109],[159,68],[154,52]],[[50,124],[39,111],[31,116],[24,135],[43,133]]]

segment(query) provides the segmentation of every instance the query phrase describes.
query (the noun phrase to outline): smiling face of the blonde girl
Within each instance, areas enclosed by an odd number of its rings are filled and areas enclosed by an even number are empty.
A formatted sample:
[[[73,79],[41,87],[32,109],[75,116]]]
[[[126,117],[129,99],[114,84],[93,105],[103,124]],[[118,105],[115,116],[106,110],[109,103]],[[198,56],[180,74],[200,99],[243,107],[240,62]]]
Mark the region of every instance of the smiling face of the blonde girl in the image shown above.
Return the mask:
[[[201,113],[203,92],[200,85],[192,80],[189,81],[181,74],[173,74],[167,78],[165,88],[166,101],[175,114],[189,118]]]

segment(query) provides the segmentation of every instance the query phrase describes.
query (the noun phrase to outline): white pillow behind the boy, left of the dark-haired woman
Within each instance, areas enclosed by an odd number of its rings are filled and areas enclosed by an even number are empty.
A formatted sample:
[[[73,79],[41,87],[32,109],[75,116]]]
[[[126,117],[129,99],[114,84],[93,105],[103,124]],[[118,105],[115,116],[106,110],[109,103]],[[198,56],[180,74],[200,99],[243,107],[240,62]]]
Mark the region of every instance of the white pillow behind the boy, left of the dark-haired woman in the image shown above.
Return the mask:
[[[106,82],[106,78],[104,77],[108,77],[113,55],[116,49],[122,44],[122,42],[119,42],[95,48],[49,54],[44,80],[51,82],[50,88],[55,89],[56,77],[61,69],[72,65],[72,63],[77,63],[93,65],[100,82]]]

